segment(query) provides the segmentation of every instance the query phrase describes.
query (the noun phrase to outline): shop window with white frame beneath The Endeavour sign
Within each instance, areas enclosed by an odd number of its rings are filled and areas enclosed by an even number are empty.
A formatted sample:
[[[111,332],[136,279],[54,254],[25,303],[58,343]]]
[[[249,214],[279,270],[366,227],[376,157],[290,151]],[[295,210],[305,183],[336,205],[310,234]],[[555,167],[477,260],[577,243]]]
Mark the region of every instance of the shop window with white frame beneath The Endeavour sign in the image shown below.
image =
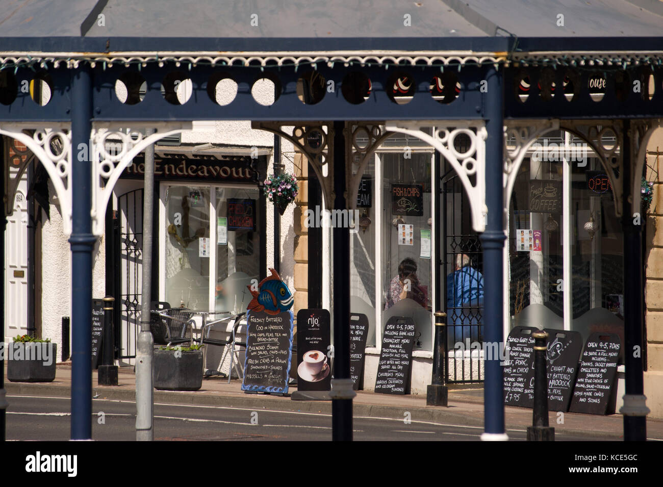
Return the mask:
[[[247,309],[259,280],[259,189],[168,184],[164,300],[200,311]]]

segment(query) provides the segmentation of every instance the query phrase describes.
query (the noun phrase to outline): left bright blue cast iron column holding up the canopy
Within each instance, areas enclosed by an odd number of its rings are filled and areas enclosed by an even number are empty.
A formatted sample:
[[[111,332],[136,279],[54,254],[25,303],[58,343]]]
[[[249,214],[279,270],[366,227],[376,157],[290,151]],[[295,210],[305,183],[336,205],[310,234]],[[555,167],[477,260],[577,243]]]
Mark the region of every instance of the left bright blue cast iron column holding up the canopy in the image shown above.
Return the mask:
[[[92,437],[91,73],[72,73],[72,440]],[[80,160],[82,159],[82,160]]]

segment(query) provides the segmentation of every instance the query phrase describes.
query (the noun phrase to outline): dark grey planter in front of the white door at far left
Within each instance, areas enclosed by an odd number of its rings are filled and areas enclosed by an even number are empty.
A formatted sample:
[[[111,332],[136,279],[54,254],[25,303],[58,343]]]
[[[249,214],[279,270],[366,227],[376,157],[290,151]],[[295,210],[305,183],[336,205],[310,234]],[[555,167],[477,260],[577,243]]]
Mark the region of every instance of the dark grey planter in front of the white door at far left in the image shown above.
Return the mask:
[[[11,382],[53,382],[58,346],[50,342],[7,344],[7,379]]]

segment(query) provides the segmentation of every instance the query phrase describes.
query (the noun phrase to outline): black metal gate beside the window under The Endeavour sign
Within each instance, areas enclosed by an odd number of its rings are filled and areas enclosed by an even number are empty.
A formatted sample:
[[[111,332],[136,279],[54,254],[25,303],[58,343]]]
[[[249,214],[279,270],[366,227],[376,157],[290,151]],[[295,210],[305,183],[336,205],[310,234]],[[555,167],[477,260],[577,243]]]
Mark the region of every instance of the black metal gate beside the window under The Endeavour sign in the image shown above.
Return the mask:
[[[117,291],[119,316],[116,319],[118,358],[135,358],[141,318],[143,280],[143,188],[117,199],[115,248],[118,249]],[[119,281],[119,282],[118,282]]]

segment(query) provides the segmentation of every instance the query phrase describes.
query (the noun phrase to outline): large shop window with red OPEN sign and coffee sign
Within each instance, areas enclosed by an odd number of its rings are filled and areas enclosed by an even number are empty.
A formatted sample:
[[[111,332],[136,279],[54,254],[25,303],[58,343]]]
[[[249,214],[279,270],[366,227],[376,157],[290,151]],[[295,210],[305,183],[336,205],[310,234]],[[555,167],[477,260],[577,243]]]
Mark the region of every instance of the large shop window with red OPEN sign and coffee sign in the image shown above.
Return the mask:
[[[511,327],[623,340],[623,239],[605,169],[565,132],[540,138],[528,155],[509,209]]]

